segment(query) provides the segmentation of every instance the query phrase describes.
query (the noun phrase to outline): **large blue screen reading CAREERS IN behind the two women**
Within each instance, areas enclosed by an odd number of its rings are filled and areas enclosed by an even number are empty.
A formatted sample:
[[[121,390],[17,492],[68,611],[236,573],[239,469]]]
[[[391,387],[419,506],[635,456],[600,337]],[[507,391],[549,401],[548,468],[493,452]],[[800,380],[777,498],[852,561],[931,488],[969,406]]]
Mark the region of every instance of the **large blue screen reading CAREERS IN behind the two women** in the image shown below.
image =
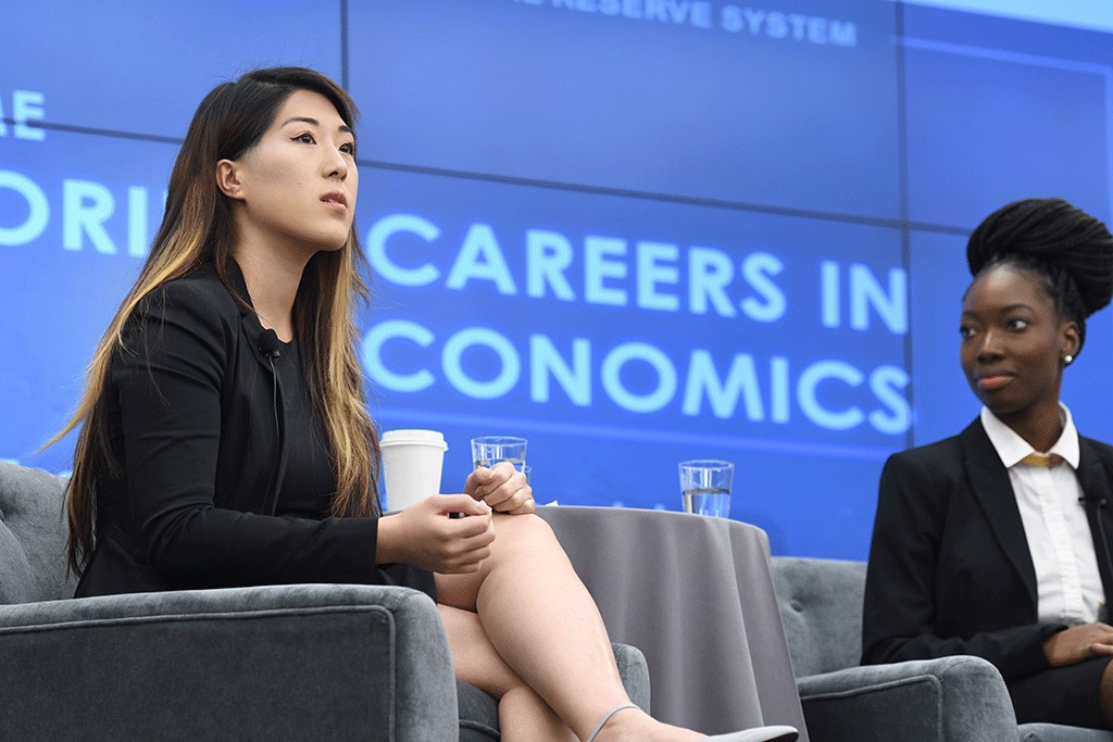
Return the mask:
[[[63,19],[59,23],[57,19]],[[59,50],[65,49],[65,53]],[[1111,214],[1107,33],[890,0],[46,1],[0,28],[0,458],[65,472],[200,98],[304,65],[363,111],[381,429],[522,435],[539,502],[737,465],[774,553],[864,558],[886,456],[961,429],[965,238]],[[1107,313],[1106,313],[1107,314]],[[1113,438],[1092,321],[1064,397]]]

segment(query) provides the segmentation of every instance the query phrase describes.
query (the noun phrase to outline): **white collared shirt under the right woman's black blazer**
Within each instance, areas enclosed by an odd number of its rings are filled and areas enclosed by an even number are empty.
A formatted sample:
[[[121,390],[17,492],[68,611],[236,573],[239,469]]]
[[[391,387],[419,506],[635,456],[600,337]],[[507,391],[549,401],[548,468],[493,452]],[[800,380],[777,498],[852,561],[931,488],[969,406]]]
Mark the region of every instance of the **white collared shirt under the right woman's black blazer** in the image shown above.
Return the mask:
[[[1063,434],[1047,452],[1037,452],[986,407],[982,425],[1008,469],[1036,571],[1041,623],[1082,624],[1097,620],[1105,600],[1094,537],[1080,501],[1078,432],[1071,410],[1060,403]],[[1032,453],[1058,454],[1065,464],[1053,468],[1021,464]]]

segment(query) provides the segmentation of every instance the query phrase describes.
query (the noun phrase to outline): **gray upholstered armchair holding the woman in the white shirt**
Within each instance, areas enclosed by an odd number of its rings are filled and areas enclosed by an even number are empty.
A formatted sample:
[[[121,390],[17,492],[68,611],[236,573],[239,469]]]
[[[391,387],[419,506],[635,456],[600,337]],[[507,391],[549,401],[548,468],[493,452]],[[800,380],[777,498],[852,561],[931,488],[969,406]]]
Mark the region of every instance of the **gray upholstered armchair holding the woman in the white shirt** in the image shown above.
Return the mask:
[[[1113,742],[1113,732],[1017,726],[1001,673],[979,657],[859,666],[865,562],[772,558],[811,742]]]

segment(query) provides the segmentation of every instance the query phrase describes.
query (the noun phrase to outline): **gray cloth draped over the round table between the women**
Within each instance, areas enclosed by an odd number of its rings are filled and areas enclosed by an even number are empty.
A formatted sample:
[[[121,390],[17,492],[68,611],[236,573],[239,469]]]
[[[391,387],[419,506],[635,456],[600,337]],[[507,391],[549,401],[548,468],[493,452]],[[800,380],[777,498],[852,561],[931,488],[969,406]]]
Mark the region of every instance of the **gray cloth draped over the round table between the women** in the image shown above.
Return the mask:
[[[609,507],[538,508],[611,641],[646,654],[653,716],[707,734],[804,712],[769,576],[769,540],[737,521]]]

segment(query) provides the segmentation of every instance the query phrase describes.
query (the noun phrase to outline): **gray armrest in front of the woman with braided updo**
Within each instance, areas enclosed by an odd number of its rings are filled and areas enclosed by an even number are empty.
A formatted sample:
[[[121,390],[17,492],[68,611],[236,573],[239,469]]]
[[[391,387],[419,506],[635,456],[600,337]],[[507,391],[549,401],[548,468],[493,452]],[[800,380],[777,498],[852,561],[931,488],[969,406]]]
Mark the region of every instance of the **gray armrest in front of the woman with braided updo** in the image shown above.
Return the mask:
[[[1015,740],[1001,673],[974,656],[848,667],[797,681],[811,742]]]

